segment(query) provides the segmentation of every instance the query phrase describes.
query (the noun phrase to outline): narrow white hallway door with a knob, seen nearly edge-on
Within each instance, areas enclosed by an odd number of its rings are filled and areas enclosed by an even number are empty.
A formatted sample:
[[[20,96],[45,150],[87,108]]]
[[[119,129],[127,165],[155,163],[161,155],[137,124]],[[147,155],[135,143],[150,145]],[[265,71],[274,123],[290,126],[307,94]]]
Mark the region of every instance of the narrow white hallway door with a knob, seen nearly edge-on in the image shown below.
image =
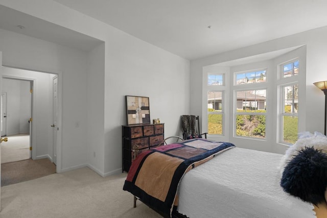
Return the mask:
[[[57,164],[58,77],[53,78],[53,162]]]

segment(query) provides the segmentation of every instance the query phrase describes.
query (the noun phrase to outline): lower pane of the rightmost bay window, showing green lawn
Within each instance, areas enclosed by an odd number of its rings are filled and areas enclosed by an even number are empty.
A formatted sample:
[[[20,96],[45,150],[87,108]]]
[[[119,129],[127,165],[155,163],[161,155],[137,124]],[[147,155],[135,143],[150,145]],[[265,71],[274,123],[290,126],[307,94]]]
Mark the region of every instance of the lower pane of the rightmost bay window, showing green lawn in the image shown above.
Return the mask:
[[[283,141],[295,143],[297,140],[297,116],[283,116]]]

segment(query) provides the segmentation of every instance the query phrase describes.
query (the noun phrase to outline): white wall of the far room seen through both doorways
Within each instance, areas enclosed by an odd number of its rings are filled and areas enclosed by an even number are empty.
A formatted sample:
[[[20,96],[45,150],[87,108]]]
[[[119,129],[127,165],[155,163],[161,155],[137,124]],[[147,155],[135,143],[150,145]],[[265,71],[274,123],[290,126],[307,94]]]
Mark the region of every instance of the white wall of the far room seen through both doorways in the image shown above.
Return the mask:
[[[7,93],[7,135],[29,133],[30,82],[4,79],[3,92]]]

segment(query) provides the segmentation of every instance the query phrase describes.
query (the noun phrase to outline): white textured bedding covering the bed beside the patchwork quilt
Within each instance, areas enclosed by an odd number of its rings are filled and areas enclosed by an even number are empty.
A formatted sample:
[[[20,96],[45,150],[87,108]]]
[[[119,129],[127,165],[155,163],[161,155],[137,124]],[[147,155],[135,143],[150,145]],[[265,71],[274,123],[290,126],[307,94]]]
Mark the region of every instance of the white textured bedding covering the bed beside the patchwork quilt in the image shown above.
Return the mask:
[[[186,173],[178,212],[188,217],[316,217],[279,185],[283,155],[233,148]]]

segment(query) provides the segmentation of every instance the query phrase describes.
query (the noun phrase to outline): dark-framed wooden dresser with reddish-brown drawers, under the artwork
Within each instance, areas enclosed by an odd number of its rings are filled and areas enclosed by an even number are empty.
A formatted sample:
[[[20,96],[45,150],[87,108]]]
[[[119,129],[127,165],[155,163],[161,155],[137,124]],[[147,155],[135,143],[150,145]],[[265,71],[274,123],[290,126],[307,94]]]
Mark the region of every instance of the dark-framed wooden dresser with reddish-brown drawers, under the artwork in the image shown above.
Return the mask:
[[[123,127],[123,172],[129,171],[135,154],[159,146],[164,141],[164,124],[128,125]]]

